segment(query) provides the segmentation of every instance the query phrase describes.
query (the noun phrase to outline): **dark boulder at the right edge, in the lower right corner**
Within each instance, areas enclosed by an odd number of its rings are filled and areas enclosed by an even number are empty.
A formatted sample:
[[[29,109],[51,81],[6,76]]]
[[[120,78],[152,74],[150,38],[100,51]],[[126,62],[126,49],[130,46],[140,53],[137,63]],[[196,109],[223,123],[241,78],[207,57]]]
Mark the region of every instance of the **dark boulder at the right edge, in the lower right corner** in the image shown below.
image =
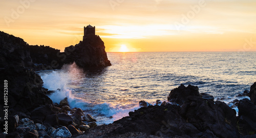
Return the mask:
[[[238,103],[238,127],[243,134],[253,134],[256,132],[256,105],[245,98]]]

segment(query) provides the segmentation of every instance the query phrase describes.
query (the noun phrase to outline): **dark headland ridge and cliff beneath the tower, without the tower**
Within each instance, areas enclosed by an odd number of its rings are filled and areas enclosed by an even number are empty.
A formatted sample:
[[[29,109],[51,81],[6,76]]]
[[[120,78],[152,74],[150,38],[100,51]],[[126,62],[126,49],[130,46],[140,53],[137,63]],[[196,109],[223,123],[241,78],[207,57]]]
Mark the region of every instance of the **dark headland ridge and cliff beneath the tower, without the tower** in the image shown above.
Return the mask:
[[[60,69],[64,64],[75,62],[79,67],[105,67],[111,63],[99,36],[89,35],[65,52],[44,45],[29,45],[23,39],[0,32],[0,68],[10,65],[35,70]]]

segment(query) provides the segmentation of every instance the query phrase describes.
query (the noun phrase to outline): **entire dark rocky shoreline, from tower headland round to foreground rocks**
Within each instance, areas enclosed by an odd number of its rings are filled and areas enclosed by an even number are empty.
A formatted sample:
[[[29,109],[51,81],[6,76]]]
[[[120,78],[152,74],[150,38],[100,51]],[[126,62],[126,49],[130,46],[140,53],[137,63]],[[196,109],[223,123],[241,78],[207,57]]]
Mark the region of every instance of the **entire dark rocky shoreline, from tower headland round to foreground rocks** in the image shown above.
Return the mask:
[[[66,48],[66,58],[61,61],[57,49],[29,48],[32,46],[20,38],[0,34],[0,78],[8,81],[8,108],[1,106],[0,137],[256,137],[256,82],[248,93],[250,100],[236,101],[238,117],[226,103],[199,93],[197,86],[181,85],[170,92],[167,101],[157,100],[155,106],[140,101],[141,108],[128,117],[97,126],[96,120],[80,108],[71,109],[67,99],[53,103],[47,96],[53,91],[42,87],[42,79],[33,70],[57,69],[72,62],[83,68],[110,66],[98,36]],[[67,55],[74,47],[74,53]],[[89,56],[81,55],[84,52]],[[77,59],[79,55],[82,58]],[[3,85],[4,95],[2,90]],[[1,104],[4,100],[1,97]],[[6,111],[8,130],[3,118]]]

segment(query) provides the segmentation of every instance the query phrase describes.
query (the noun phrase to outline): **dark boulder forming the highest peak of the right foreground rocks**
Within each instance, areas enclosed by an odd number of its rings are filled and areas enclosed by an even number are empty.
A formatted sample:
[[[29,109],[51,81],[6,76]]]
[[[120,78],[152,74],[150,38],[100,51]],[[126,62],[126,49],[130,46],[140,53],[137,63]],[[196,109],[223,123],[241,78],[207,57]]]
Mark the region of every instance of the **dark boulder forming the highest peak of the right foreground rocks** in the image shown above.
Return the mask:
[[[167,100],[169,102],[175,102],[179,105],[184,104],[187,100],[188,96],[200,96],[197,86],[188,85],[185,87],[184,85],[180,85],[178,88],[173,89],[170,91]]]

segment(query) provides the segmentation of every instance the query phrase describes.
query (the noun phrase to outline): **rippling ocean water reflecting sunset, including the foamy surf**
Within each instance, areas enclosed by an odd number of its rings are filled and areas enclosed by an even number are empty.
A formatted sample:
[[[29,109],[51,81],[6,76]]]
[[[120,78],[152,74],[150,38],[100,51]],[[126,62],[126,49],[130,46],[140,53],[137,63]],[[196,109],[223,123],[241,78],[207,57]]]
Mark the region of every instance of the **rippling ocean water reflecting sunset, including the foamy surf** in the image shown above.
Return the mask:
[[[72,64],[38,74],[45,88],[60,89],[50,96],[53,102],[68,97],[71,107],[91,114],[98,125],[128,116],[140,100],[167,100],[181,84],[228,103],[249,98],[238,94],[256,81],[256,52],[109,52],[108,58],[112,66],[103,69]]]

